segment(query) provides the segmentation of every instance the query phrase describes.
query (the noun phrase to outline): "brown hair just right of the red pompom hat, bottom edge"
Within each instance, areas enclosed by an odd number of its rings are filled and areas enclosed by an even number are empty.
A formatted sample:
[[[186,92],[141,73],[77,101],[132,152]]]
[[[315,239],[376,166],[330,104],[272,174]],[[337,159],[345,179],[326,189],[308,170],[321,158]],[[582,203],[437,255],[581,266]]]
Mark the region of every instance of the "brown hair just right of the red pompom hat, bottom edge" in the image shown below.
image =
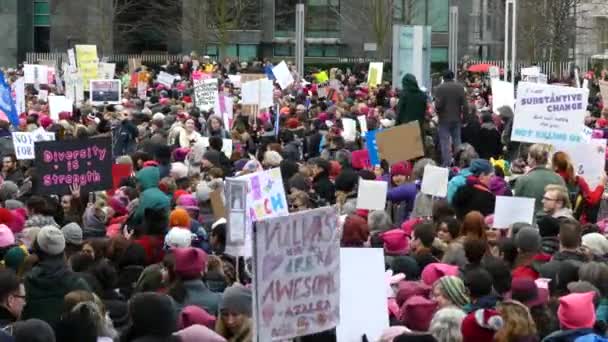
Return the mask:
[[[494,335],[497,342],[517,341],[521,337],[536,336],[536,324],[528,307],[515,300],[500,303],[497,311],[503,325]]]

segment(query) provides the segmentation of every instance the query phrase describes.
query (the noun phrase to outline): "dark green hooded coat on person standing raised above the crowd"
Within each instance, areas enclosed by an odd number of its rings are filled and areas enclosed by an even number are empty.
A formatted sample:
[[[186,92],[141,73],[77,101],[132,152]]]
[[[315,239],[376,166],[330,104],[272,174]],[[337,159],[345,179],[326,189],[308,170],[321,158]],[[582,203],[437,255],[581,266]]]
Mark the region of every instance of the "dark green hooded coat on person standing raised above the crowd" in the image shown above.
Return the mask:
[[[422,127],[426,109],[426,94],[418,87],[416,77],[412,74],[406,74],[402,80],[396,124],[400,125],[411,121],[418,121],[420,127]]]

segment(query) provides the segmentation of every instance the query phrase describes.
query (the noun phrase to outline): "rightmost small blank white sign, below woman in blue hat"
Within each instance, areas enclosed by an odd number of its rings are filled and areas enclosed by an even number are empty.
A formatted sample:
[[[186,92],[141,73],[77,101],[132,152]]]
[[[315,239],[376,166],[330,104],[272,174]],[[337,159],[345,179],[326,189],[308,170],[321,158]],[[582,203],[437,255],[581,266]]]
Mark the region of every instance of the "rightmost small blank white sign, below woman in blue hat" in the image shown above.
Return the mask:
[[[496,196],[493,228],[507,229],[517,222],[532,224],[534,202],[534,198]]]

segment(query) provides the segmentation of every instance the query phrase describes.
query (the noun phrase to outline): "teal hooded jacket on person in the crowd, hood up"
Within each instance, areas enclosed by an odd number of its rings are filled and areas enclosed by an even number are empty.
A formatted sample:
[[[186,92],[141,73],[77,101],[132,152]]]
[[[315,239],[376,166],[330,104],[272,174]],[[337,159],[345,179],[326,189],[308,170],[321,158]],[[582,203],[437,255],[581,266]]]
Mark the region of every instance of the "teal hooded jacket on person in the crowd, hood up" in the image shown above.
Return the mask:
[[[134,224],[143,222],[146,209],[164,209],[167,212],[170,210],[169,197],[158,188],[160,171],[157,167],[144,167],[137,172],[135,178],[141,186],[142,192],[139,194],[139,205],[135,211]]]

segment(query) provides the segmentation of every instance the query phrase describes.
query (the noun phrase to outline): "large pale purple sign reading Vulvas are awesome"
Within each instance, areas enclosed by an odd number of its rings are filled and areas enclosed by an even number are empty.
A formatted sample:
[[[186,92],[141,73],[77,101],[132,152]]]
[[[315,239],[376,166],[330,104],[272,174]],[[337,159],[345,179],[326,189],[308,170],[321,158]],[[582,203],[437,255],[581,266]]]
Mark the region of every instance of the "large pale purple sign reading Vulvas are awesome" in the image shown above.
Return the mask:
[[[338,324],[340,230],[335,208],[258,222],[254,256],[259,341],[283,341]]]

